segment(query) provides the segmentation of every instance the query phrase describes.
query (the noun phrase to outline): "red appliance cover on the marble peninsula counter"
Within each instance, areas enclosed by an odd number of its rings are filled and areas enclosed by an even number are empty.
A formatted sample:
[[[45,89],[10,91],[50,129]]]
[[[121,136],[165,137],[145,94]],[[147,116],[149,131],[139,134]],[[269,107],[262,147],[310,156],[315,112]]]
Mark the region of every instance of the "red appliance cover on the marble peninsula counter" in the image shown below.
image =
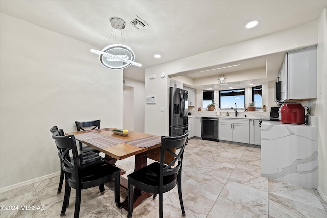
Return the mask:
[[[283,104],[279,109],[281,123],[304,124],[305,108],[301,104]]]

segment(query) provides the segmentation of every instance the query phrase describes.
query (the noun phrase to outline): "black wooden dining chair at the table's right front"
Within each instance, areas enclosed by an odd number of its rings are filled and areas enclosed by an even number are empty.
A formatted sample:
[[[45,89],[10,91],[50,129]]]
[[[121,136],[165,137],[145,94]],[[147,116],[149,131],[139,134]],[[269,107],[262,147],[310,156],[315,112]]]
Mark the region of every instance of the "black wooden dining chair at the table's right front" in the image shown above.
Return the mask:
[[[163,194],[173,189],[176,184],[182,216],[185,216],[185,209],[182,198],[182,162],[183,154],[188,139],[189,131],[186,130],[181,136],[161,136],[160,162],[154,162],[135,171],[127,176],[128,178],[128,213],[131,218],[133,214],[133,186],[146,192],[153,193],[153,198],[159,195],[159,217],[164,217]],[[173,150],[178,151],[178,154]],[[173,160],[164,164],[165,155],[173,155]],[[176,164],[176,165],[175,165]]]

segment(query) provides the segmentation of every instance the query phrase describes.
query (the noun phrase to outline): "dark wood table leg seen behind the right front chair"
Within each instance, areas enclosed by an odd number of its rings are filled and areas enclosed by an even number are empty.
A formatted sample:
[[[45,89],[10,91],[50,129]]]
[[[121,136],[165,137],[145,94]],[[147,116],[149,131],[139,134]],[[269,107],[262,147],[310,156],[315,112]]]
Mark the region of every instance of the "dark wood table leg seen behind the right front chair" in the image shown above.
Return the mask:
[[[138,169],[141,169],[143,167],[147,166],[147,152],[137,154],[135,155],[135,169],[134,171],[137,171]],[[127,183],[126,183],[127,187]],[[138,188],[134,188],[134,204],[133,208],[137,207],[141,202],[147,198],[152,196],[152,193],[142,191]],[[128,205],[128,199],[126,198],[124,202],[122,203],[123,208],[127,210]]]

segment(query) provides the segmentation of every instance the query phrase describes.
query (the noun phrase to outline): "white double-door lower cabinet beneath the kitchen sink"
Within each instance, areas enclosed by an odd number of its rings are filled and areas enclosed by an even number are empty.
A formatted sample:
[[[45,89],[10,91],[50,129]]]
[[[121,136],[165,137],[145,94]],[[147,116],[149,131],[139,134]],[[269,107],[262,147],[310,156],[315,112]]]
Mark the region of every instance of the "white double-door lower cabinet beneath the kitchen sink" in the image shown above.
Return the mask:
[[[219,140],[249,143],[248,119],[219,118],[218,126]]]

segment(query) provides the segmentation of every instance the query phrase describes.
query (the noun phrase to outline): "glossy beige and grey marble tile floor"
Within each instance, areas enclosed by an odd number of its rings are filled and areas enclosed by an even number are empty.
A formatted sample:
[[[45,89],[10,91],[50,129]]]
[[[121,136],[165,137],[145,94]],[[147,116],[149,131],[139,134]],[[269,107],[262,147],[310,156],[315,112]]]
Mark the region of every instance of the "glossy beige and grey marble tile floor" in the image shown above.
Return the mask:
[[[260,158],[258,148],[189,140],[182,179],[186,217],[327,217],[327,202],[317,190],[261,177]],[[126,177],[133,170],[134,157],[116,165],[126,170]],[[0,217],[60,217],[64,188],[58,195],[58,183],[56,176],[1,193],[0,205],[14,206],[15,210],[0,210]],[[115,207],[113,182],[106,183],[105,188],[104,195],[98,187],[82,190],[80,217],[127,216],[126,210]],[[121,188],[120,196],[123,201],[127,191]],[[64,217],[73,217],[74,205],[72,189]],[[158,217],[158,197],[142,202],[133,217]],[[177,187],[164,195],[164,217],[182,217]]]

